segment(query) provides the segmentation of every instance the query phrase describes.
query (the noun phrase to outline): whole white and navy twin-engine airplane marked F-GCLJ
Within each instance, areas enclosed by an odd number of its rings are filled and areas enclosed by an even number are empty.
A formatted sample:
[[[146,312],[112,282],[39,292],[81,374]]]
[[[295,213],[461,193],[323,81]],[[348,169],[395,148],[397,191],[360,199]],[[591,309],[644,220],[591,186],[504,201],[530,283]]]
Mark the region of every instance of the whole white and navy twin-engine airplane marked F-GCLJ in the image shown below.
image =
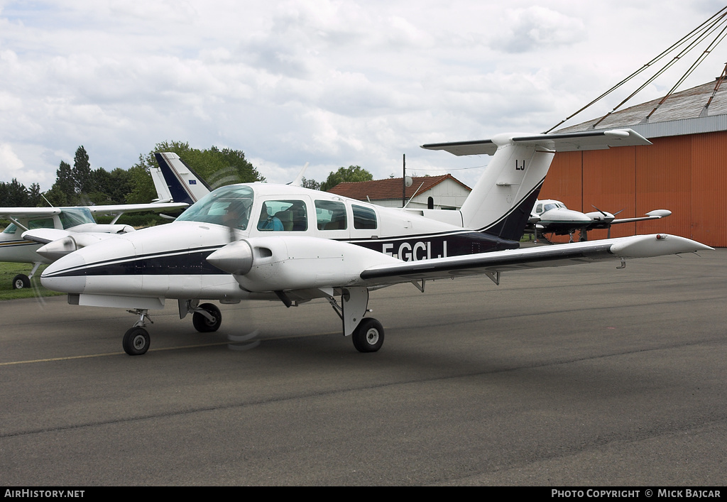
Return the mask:
[[[381,348],[384,329],[366,317],[369,292],[411,282],[696,252],[712,248],[654,234],[554,247],[518,249],[518,240],[555,151],[647,145],[631,130],[568,135],[497,135],[492,140],[423,148],[493,158],[459,211],[409,211],[305,188],[252,183],[218,188],[177,220],[116,236],[64,254],[54,243],[41,254],[62,256],[41,282],[85,306],[132,308],[139,316],[124,335],[127,354],[144,354],[150,309],[178,300],[198,331],[220,327],[220,310],[199,300],[275,300],[286,306],[325,298],[361,352]],[[337,300],[340,298],[340,300]]]

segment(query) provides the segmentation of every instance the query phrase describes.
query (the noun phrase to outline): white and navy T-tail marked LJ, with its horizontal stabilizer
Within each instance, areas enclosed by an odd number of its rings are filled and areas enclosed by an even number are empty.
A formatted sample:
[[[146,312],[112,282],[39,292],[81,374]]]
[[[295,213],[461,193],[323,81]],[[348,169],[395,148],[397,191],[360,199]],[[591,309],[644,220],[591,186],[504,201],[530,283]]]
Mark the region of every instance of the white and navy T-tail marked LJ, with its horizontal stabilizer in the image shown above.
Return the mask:
[[[475,188],[462,204],[462,226],[519,241],[555,152],[650,144],[632,130],[611,130],[502,134],[491,140],[433,143],[422,148],[454,155],[491,155]]]

